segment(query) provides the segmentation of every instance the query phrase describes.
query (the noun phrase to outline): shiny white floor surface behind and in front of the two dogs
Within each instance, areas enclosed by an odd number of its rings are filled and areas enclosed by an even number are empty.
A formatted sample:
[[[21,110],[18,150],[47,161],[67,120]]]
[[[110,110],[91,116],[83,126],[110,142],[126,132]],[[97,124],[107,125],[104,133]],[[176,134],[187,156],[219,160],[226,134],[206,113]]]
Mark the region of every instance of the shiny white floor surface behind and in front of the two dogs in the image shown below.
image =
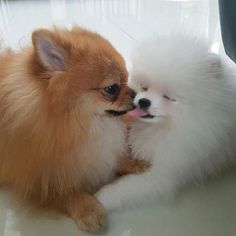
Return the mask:
[[[0,38],[21,48],[35,28],[74,23],[96,30],[123,54],[130,67],[135,43],[148,36],[184,30],[212,42],[223,53],[217,0],[78,0],[2,1]],[[183,193],[171,205],[152,203],[110,215],[112,236],[236,236],[236,175],[219,177]],[[0,236],[89,235],[64,217],[22,214],[0,192]]]

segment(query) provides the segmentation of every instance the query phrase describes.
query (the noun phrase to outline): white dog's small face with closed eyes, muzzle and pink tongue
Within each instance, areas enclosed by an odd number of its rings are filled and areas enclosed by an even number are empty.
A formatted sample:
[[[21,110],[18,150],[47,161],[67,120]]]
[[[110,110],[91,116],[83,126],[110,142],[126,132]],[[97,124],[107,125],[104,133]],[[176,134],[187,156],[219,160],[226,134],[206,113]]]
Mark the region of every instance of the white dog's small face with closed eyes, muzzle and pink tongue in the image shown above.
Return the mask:
[[[133,117],[144,122],[161,122],[171,118],[178,104],[173,89],[163,81],[153,82],[143,73],[133,73],[129,86],[136,92],[136,109],[129,112]]]

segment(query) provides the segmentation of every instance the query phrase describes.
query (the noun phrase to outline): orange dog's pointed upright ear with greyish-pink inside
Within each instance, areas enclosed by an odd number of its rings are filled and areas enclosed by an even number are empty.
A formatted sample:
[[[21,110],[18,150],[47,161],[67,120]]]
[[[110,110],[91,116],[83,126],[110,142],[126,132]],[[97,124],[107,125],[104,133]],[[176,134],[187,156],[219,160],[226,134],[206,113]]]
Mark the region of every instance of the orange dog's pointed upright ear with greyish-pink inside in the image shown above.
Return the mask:
[[[32,34],[38,60],[45,69],[51,72],[63,71],[65,68],[66,50],[57,41],[53,32],[48,30],[36,30]]]

